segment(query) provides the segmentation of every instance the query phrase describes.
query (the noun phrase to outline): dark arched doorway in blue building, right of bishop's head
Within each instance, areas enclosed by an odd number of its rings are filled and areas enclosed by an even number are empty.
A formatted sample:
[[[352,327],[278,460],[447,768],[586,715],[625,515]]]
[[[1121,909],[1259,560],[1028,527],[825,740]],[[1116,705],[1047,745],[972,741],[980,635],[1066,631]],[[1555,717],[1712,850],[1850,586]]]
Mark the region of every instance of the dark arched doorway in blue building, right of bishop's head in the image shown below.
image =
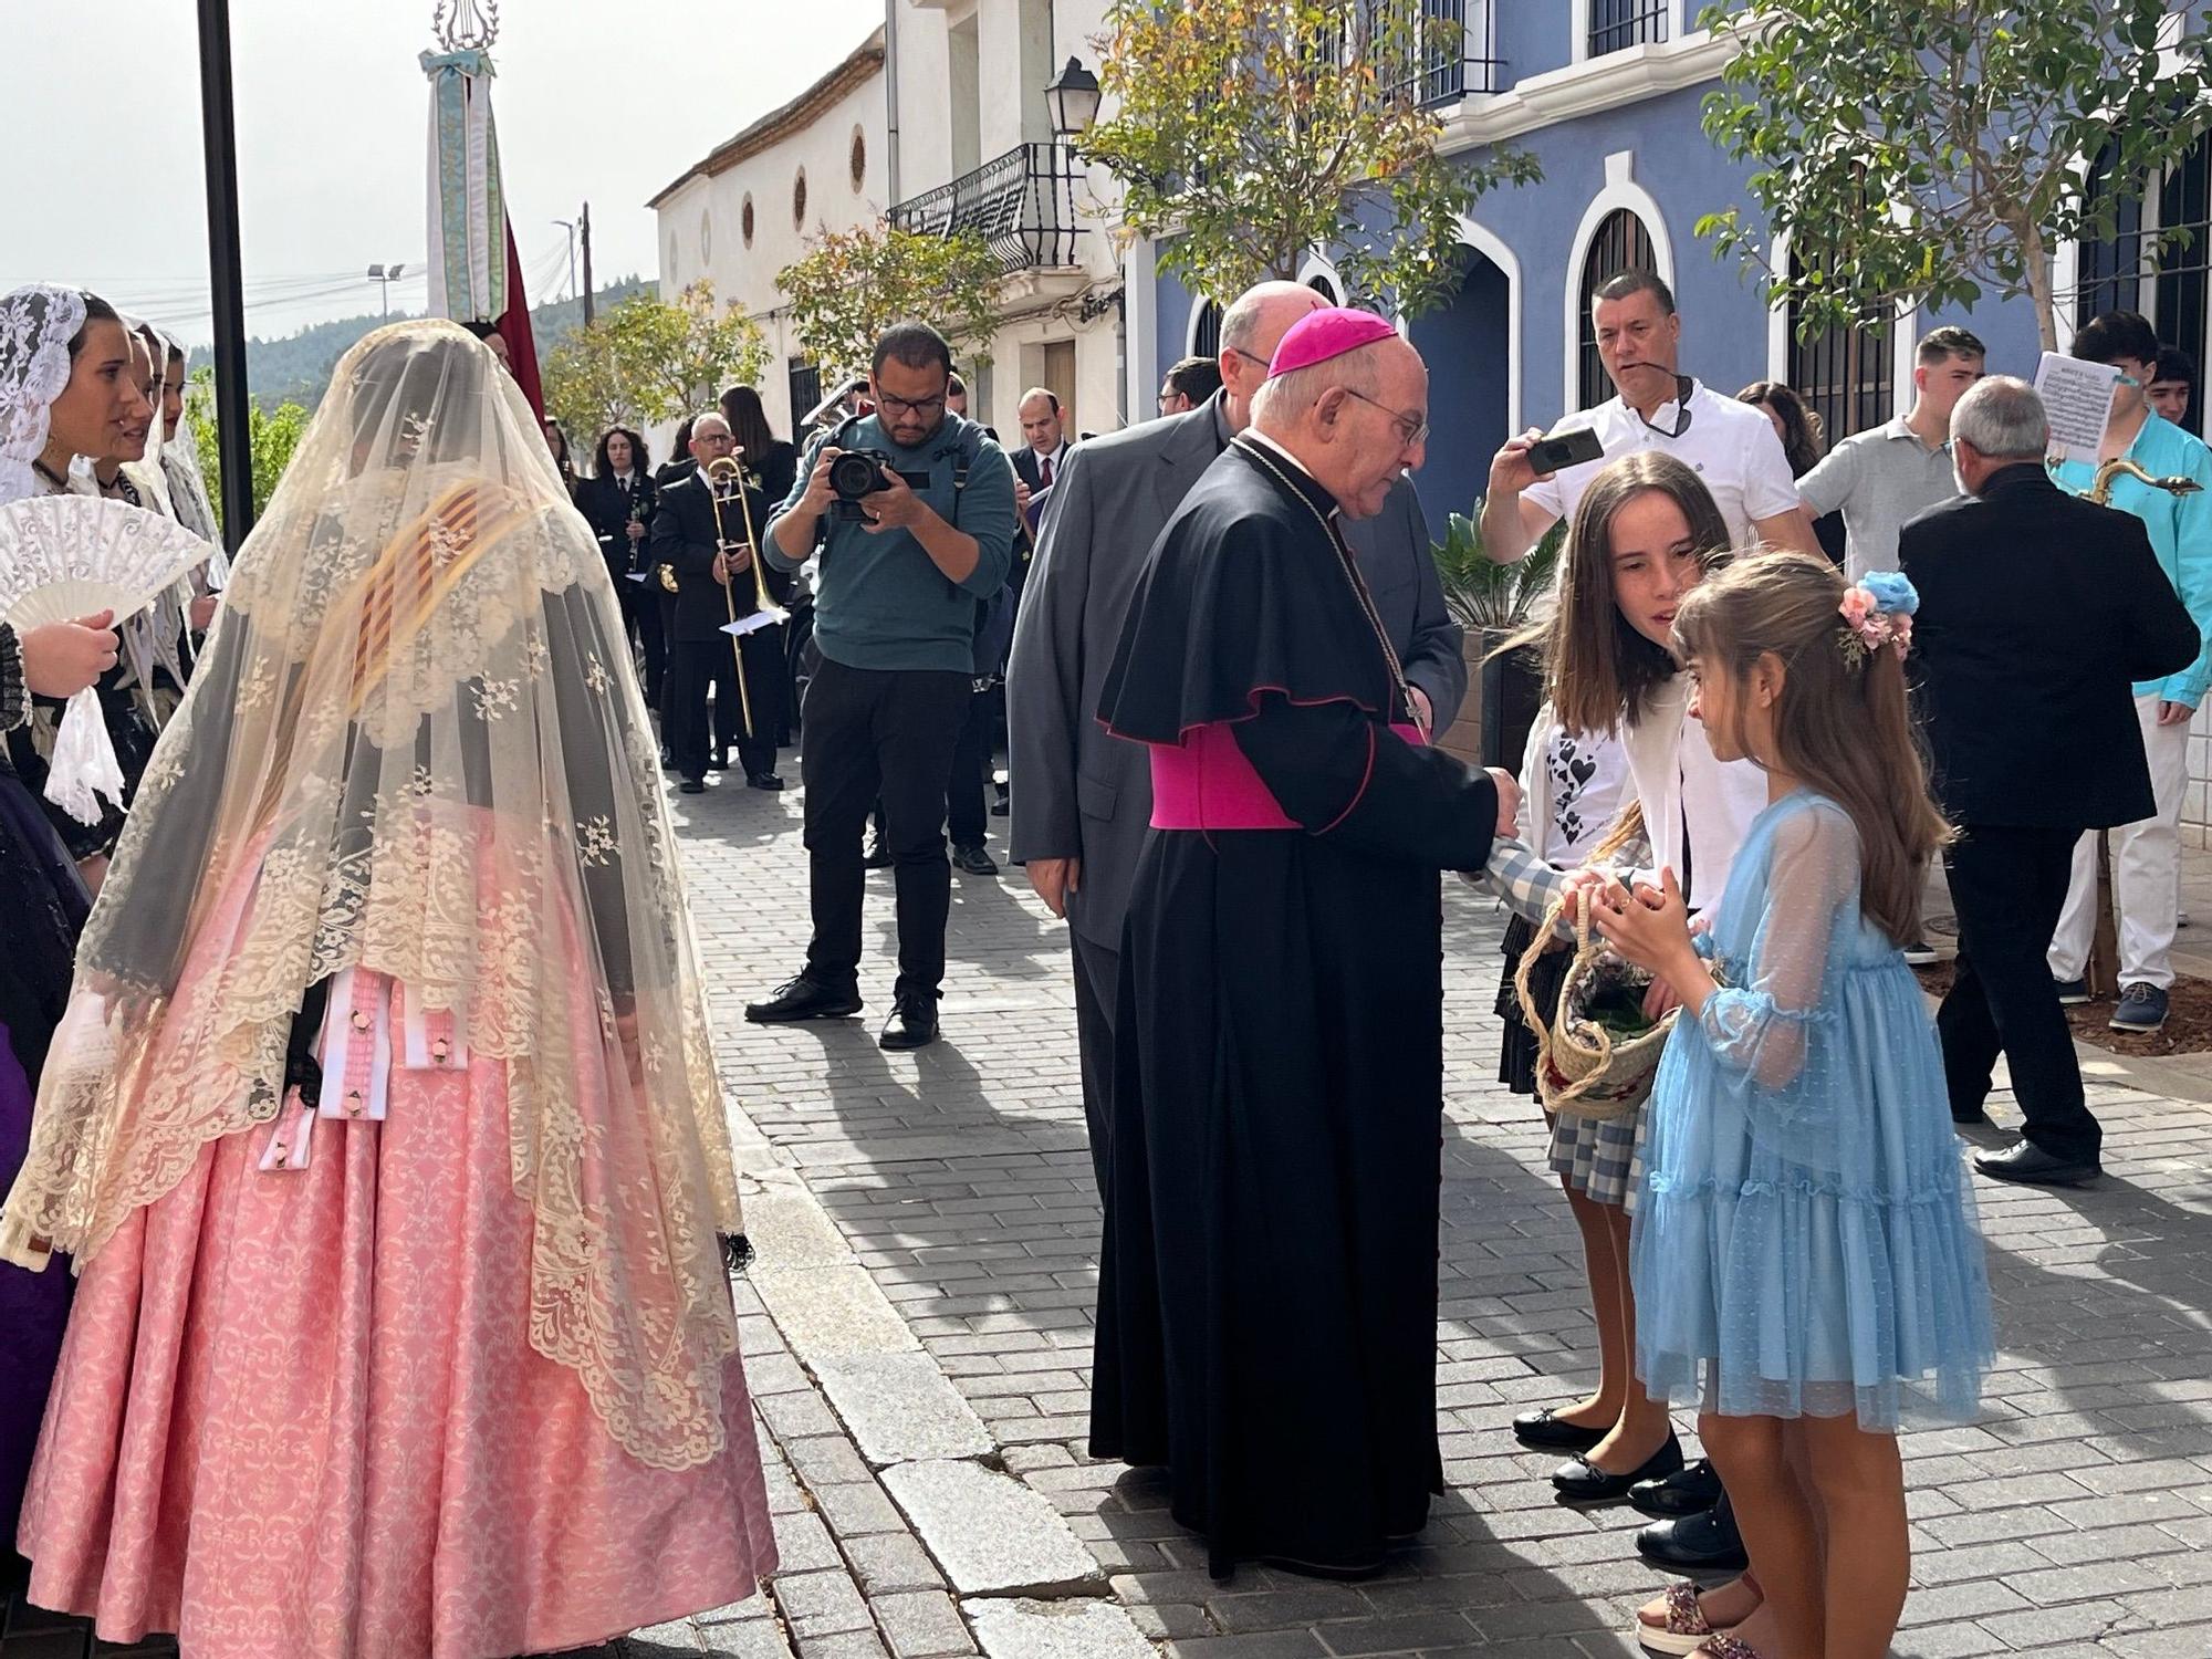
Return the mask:
[[[1467,243],[1458,259],[1458,296],[1407,325],[1429,365],[1429,425],[1438,434],[1413,489],[1438,540],[1447,513],[1473,511],[1513,418],[1513,279]]]

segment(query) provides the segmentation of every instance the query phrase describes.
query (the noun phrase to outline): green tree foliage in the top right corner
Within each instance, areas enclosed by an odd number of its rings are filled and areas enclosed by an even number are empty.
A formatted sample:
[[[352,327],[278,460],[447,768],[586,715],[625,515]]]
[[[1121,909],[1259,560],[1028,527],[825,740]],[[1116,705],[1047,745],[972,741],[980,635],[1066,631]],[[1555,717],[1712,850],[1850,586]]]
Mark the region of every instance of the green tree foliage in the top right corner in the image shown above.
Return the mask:
[[[2053,250],[2110,234],[2205,122],[2205,35],[2168,0],[1745,0],[1701,22],[1741,40],[1703,122],[1756,168],[1765,226],[1728,208],[1697,234],[1807,334],[2026,294],[2057,349]]]

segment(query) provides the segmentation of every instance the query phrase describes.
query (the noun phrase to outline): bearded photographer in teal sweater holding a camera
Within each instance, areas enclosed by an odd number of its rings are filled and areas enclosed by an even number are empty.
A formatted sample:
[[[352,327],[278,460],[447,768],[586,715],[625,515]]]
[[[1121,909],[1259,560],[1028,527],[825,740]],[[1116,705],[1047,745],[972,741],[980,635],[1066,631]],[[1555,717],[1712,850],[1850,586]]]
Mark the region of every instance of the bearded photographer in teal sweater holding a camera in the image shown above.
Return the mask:
[[[898,891],[898,984],[885,1048],[938,1035],[945,980],[945,781],[975,672],[975,602],[1013,560],[1013,467],[982,427],[947,411],[951,347],[925,323],[876,341],[876,411],[816,438],[765,553],[796,571],[821,549],[803,708],[805,845],[814,905],[807,964],[757,1024],[860,1011],[860,832],[880,794]]]

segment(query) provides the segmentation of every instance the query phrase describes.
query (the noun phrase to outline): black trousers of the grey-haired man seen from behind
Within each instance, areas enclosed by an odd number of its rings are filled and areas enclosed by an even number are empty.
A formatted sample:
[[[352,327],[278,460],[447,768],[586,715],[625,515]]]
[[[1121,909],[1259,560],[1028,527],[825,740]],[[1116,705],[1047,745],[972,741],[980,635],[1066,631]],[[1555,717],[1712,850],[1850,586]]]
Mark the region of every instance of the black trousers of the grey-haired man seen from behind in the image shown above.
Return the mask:
[[[2081,1066],[2046,953],[2066,905],[2079,830],[1966,825],[1944,849],[1958,907],[1958,980],[1936,1013],[1953,1113],[1978,1113],[2002,1051],[2026,1137],[2093,1164],[2104,1130],[2081,1099]]]

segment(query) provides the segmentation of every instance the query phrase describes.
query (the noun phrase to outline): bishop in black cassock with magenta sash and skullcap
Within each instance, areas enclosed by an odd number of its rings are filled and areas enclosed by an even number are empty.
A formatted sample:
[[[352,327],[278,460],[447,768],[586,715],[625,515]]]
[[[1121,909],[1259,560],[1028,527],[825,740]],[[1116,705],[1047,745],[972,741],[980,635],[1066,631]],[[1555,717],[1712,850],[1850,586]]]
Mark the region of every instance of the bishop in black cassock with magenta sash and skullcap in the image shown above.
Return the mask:
[[[1427,748],[1340,515],[1420,465],[1420,356],[1283,336],[1155,544],[1099,719],[1150,745],[1121,947],[1091,1451],[1164,1464],[1212,1568],[1363,1573],[1442,1491],[1438,872],[1513,781]]]

